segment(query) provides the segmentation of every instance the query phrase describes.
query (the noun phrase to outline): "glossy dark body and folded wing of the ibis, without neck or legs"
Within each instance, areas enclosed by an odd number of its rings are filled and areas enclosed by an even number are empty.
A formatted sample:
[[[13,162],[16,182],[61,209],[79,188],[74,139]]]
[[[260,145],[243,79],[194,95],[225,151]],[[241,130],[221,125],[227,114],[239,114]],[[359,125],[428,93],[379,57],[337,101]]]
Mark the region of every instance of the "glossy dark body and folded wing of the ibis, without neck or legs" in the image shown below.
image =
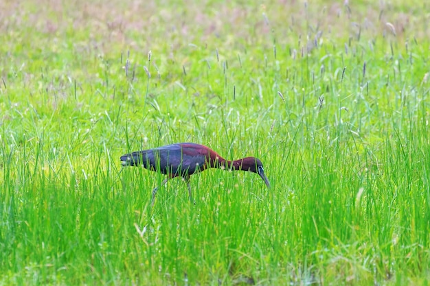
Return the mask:
[[[176,143],[121,156],[122,165],[142,165],[172,177],[194,174],[206,169],[207,147],[196,143]]]

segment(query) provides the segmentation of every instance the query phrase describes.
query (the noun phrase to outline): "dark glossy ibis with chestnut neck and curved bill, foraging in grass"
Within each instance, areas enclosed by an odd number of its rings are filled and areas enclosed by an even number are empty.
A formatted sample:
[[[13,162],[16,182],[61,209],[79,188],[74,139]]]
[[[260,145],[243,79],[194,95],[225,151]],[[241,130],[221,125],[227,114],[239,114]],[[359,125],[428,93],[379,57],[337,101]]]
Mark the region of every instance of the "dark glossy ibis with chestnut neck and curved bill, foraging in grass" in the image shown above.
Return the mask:
[[[270,187],[269,179],[264,174],[263,164],[258,158],[246,157],[238,160],[226,160],[209,147],[196,143],[175,143],[136,151],[125,154],[120,159],[123,167],[142,166],[151,171],[168,175],[163,180],[163,184],[166,184],[171,178],[182,177],[187,183],[190,201],[192,201],[190,176],[209,168],[251,171],[258,174],[267,187]],[[152,190],[152,204],[154,204],[157,190],[158,187]]]

